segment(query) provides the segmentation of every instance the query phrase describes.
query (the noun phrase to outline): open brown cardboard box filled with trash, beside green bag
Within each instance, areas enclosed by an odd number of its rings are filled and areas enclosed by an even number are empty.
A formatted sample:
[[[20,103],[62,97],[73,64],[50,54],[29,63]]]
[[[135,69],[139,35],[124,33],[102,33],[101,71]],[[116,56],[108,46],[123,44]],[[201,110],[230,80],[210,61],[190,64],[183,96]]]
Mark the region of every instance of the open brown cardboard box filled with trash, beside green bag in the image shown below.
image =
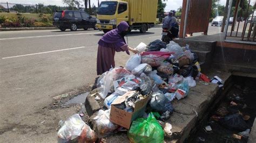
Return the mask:
[[[110,121],[112,123],[125,127],[129,130],[132,124],[132,121],[143,116],[146,109],[147,102],[149,102],[149,99],[150,99],[149,96],[136,102],[133,112],[126,112],[125,110],[116,108],[115,106],[120,103],[123,103],[126,97],[130,98],[131,96],[136,94],[136,92],[137,91],[126,92],[126,94],[124,94],[123,96],[120,96],[118,99],[116,99],[116,101],[112,103],[111,110],[110,110]]]

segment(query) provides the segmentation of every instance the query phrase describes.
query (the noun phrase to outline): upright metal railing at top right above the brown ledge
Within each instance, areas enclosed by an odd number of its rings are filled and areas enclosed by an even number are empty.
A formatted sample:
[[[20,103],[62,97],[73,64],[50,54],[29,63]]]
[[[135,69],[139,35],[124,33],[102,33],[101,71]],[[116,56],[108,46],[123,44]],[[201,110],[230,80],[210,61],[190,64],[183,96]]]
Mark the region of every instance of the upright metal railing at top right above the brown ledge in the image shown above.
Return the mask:
[[[240,3],[244,3],[244,1],[237,0],[235,9],[231,12],[232,0],[230,1],[225,24],[225,40],[256,44],[256,3],[254,0],[248,0],[247,8],[244,8],[245,4]],[[238,12],[239,10],[240,12]],[[231,15],[233,15],[233,20],[230,18]]]

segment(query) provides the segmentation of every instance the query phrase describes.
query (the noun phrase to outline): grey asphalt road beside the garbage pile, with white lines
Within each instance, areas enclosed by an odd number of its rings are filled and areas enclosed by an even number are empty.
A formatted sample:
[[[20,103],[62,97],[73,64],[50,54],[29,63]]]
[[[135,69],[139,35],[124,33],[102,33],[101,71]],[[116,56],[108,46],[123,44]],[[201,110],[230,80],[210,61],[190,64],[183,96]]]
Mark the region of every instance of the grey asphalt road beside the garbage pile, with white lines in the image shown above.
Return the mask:
[[[218,27],[210,26],[215,34]],[[161,28],[133,31],[128,43],[160,39]],[[0,142],[56,142],[60,119],[75,108],[51,110],[52,97],[93,84],[97,42],[102,31],[59,30],[0,32]],[[116,53],[116,66],[129,59]]]

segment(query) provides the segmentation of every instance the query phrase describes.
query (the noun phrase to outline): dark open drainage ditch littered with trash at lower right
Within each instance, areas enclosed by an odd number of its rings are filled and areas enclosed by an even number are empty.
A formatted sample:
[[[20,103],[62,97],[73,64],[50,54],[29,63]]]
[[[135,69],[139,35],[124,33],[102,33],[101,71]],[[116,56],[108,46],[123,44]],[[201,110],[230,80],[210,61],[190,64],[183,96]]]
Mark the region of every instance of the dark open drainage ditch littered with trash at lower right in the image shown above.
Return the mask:
[[[256,78],[232,76],[228,84],[185,142],[247,142],[256,115]]]

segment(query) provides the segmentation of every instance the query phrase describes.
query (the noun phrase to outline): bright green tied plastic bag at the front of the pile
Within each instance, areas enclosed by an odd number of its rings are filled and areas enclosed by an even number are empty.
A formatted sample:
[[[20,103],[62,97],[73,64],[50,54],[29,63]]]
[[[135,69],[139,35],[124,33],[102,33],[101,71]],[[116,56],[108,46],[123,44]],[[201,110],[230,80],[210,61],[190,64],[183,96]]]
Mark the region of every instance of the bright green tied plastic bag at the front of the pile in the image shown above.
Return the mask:
[[[151,112],[146,119],[138,118],[132,122],[128,138],[130,142],[136,143],[164,142],[164,131]]]

